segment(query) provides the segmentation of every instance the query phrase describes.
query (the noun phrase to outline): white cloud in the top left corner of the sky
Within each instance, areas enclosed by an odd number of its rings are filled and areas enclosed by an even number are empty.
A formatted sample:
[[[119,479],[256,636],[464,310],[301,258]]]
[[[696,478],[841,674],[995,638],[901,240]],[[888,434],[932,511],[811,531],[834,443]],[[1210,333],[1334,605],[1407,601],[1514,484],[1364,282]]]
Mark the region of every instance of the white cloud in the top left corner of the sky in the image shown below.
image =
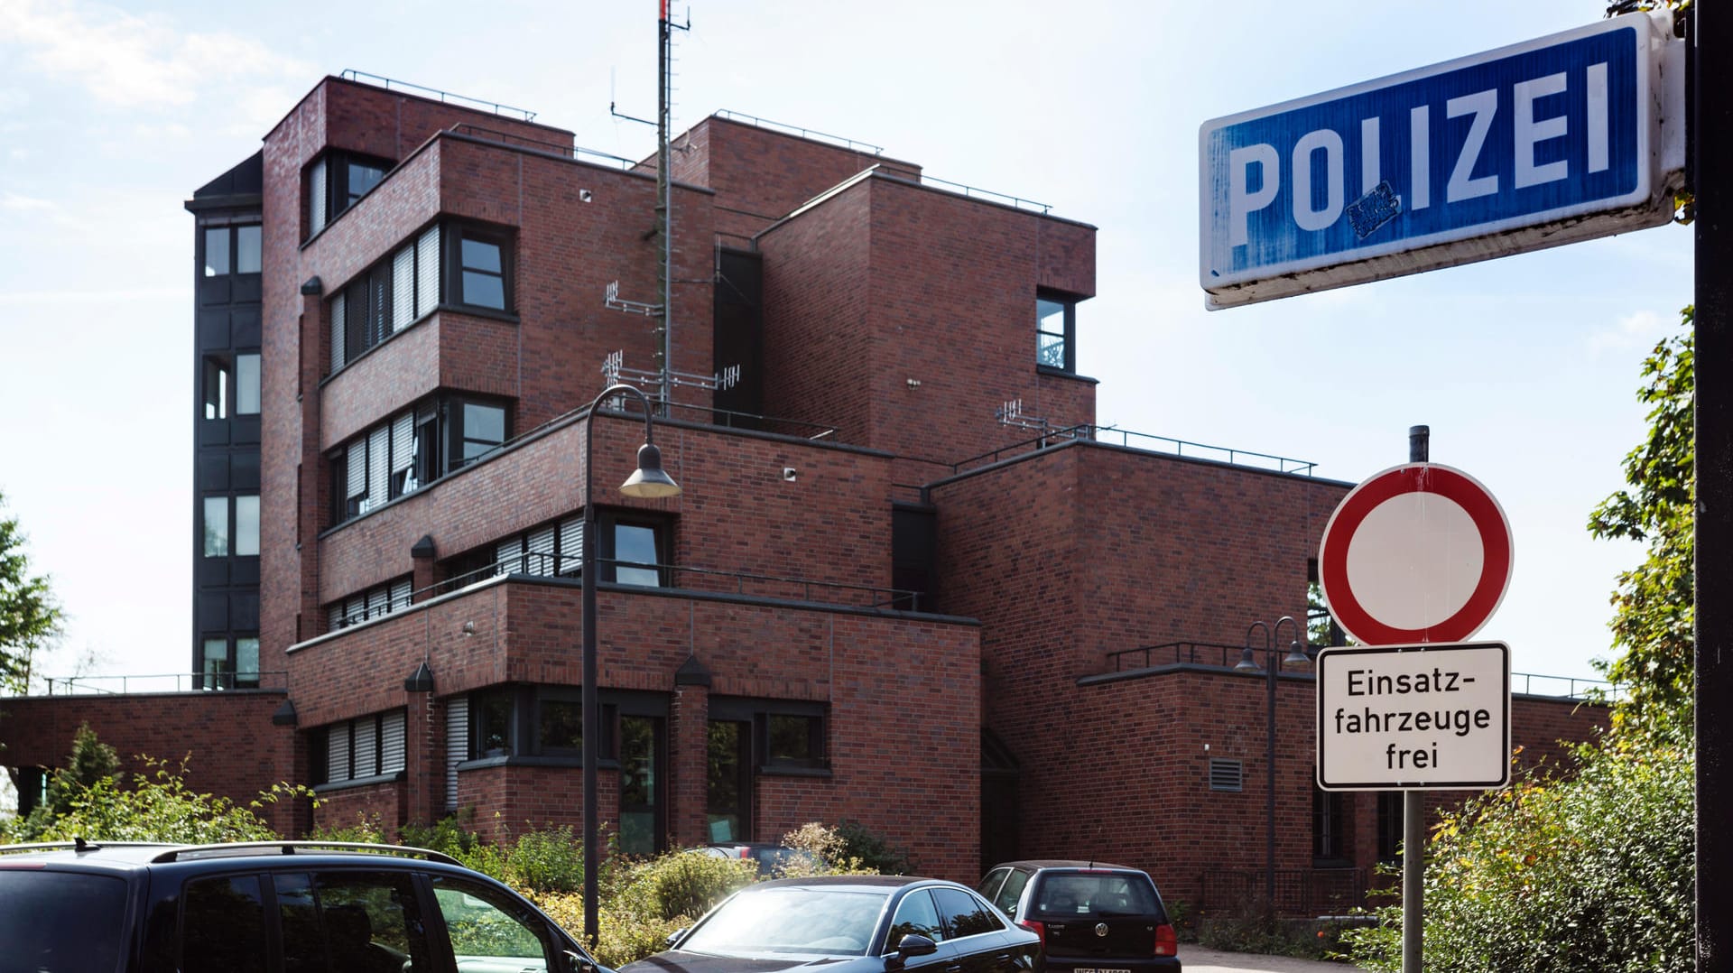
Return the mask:
[[[314,73],[251,38],[180,33],[161,17],[92,3],[0,0],[0,47],[23,47],[40,71],[118,108],[182,106],[201,92],[232,95],[239,82]]]

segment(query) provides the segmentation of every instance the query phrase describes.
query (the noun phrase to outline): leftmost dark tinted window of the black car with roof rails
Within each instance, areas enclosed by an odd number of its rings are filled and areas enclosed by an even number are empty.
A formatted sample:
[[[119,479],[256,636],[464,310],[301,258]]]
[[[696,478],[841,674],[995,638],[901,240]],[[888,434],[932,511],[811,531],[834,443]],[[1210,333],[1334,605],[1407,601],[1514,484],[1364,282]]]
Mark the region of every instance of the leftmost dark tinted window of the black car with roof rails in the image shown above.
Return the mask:
[[[118,878],[0,869],[0,968],[114,970],[125,909]]]

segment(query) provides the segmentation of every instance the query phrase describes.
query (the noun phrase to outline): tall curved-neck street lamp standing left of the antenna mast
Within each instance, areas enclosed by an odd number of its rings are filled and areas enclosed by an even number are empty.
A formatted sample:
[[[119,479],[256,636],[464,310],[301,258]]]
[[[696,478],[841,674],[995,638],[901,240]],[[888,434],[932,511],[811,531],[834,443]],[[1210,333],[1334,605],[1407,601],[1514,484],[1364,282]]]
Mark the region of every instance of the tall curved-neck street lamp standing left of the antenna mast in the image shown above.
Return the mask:
[[[596,761],[601,746],[601,702],[596,692],[596,505],[593,498],[596,468],[596,409],[603,399],[631,395],[645,411],[645,444],[638,447],[638,470],[620,484],[620,493],[643,500],[679,496],[679,484],[662,472],[662,451],[655,447],[655,423],[650,418],[650,401],[631,385],[610,385],[589,402],[584,416],[584,560],[582,560],[582,623],[584,623],[584,938],[596,947],[596,871],[601,860],[596,810]]]

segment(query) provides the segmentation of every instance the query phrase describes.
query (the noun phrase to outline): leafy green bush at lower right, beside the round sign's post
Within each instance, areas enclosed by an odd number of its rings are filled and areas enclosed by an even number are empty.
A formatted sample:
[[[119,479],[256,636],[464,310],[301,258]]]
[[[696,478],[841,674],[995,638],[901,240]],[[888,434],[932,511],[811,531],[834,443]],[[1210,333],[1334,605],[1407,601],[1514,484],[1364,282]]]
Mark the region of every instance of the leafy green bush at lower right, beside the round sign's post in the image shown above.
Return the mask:
[[[1615,734],[1575,751],[1572,777],[1527,775],[1433,829],[1430,970],[1603,973],[1690,970],[1690,744]],[[1343,935],[1366,970],[1402,966],[1400,904]]]

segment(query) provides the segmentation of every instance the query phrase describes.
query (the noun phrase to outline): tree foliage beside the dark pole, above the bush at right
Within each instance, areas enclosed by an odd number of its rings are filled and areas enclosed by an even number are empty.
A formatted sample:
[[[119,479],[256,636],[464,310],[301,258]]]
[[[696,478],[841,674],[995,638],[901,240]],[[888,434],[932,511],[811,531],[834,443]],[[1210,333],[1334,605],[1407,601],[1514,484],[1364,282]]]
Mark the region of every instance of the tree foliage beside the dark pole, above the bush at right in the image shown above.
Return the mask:
[[[1598,663],[1627,695],[1617,723],[1690,734],[1693,633],[1693,484],[1695,401],[1691,307],[1684,333],[1655,345],[1643,362],[1638,399],[1650,406],[1648,437],[1624,458],[1629,484],[1594,508],[1596,538],[1648,541],[1648,558],[1619,574],[1613,591],[1613,645],[1620,654]]]

